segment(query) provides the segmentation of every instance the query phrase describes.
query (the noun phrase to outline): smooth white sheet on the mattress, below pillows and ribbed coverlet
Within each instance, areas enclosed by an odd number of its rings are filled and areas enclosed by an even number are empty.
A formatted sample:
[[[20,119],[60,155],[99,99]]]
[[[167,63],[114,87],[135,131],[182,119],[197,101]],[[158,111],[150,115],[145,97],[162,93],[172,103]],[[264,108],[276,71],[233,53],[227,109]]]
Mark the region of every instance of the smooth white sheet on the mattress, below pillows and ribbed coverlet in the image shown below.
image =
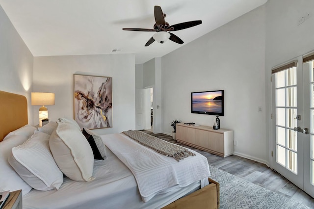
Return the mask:
[[[114,134],[103,135],[104,141],[107,136],[114,137]],[[196,158],[204,157],[196,152],[194,153]],[[175,169],[192,166],[186,171],[188,175],[194,175],[198,172],[199,168],[193,165],[193,157],[185,158],[179,163],[171,157],[166,158],[170,158],[169,161],[174,164]],[[105,160],[95,160],[93,176],[96,179],[91,182],[75,182],[65,178],[59,190],[38,191],[32,189],[23,196],[23,208],[156,209],[162,208],[183,195],[199,189],[201,185],[200,181],[193,183],[183,181],[181,182],[183,188],[175,188],[168,193],[157,194],[153,199],[144,203],[131,171],[109,149],[107,149],[107,158]]]

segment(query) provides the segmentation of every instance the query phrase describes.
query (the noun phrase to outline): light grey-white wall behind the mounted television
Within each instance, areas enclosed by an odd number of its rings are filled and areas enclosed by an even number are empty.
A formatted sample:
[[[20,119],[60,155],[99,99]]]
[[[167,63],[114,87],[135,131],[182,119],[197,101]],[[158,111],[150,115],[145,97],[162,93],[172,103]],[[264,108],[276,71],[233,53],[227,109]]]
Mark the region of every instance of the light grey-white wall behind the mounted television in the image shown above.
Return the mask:
[[[171,133],[174,119],[213,126],[215,116],[191,113],[190,93],[224,90],[220,126],[234,130],[235,154],[267,164],[264,5],[163,56],[161,63],[164,133]]]

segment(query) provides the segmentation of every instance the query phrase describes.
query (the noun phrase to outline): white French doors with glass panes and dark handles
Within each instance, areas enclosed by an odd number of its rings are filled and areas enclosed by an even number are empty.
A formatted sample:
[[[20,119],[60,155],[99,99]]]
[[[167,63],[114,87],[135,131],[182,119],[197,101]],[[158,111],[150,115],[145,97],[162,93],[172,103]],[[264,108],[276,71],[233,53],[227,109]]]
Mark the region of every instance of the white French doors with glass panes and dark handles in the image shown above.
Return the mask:
[[[272,75],[273,168],[314,197],[314,62],[294,63]]]

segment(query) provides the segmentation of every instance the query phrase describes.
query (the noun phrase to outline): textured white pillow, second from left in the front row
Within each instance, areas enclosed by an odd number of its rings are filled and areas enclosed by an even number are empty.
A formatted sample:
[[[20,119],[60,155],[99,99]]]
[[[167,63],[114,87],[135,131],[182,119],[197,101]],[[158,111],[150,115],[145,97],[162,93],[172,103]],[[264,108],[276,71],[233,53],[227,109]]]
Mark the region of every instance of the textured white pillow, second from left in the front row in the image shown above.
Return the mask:
[[[49,149],[50,135],[36,131],[24,144],[12,148],[9,163],[28,185],[48,191],[59,189],[63,173],[55,164]]]

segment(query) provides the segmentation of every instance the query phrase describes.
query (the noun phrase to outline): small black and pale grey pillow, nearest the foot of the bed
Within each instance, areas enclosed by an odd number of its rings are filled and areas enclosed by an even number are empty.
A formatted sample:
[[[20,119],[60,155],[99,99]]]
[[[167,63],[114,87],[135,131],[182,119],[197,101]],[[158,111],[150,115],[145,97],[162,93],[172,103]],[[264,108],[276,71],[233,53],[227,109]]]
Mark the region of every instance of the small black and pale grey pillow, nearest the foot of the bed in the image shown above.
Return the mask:
[[[100,135],[86,128],[83,128],[82,133],[93,150],[94,159],[104,159],[106,157],[106,150],[105,144]]]

